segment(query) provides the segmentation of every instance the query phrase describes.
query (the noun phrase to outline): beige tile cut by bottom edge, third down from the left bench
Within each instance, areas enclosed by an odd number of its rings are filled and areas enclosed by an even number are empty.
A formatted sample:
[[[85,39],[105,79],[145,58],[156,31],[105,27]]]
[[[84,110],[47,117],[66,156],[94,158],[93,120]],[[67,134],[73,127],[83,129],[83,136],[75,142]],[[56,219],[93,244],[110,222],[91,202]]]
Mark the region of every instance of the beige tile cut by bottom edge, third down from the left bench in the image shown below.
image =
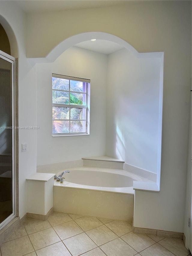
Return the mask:
[[[62,242],[58,242],[36,251],[37,256],[71,256]]]

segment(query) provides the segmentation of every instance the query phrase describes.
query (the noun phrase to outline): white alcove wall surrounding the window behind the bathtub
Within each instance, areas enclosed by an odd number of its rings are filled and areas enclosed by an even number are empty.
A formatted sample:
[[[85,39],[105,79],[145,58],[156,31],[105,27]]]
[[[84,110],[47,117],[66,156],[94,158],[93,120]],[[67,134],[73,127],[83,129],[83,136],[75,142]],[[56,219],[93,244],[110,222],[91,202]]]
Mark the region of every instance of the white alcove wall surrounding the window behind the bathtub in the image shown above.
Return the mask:
[[[107,55],[70,47],[54,63],[36,66],[38,166],[105,155]],[[52,137],[52,73],[91,80],[90,135]]]

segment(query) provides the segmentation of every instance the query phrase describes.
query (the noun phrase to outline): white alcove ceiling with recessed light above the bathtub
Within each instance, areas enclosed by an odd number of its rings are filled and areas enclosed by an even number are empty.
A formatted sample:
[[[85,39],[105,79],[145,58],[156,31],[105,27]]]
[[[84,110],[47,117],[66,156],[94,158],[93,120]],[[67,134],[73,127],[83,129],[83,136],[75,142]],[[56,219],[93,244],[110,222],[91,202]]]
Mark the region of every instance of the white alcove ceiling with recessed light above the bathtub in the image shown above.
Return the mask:
[[[76,44],[75,46],[86,49],[86,50],[98,52],[98,53],[104,53],[104,54],[114,53],[124,48],[120,44],[116,44],[111,41],[100,40],[100,39],[96,41],[91,41],[91,40],[84,41],[82,43]]]

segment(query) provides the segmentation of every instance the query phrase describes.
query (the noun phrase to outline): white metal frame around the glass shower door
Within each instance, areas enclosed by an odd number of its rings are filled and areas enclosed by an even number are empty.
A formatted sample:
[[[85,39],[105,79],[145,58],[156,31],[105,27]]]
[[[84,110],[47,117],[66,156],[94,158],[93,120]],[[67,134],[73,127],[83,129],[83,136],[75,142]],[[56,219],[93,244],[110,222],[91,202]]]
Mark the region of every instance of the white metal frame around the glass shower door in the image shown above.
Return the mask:
[[[15,82],[16,82],[16,59],[0,50],[0,57],[11,63],[11,114],[12,127],[15,127]],[[16,217],[16,164],[15,164],[15,131],[12,129],[12,206],[13,211],[4,221],[0,223],[0,230]]]

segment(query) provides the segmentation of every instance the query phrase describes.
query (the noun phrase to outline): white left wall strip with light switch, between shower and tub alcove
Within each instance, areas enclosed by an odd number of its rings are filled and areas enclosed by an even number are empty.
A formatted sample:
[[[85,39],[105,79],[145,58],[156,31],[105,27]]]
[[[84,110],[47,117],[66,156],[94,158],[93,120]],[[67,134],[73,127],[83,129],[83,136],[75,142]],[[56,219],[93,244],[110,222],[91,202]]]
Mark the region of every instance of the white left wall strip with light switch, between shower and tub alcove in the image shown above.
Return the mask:
[[[8,35],[11,54],[18,58],[19,126],[36,126],[35,66],[26,58],[26,14],[13,1],[0,1],[0,23]],[[2,22],[1,22],[2,21]],[[16,41],[15,41],[16,39]],[[26,178],[36,172],[36,130],[19,129],[19,216],[26,214]],[[27,151],[21,152],[21,144]],[[18,206],[17,206],[18,207]]]

